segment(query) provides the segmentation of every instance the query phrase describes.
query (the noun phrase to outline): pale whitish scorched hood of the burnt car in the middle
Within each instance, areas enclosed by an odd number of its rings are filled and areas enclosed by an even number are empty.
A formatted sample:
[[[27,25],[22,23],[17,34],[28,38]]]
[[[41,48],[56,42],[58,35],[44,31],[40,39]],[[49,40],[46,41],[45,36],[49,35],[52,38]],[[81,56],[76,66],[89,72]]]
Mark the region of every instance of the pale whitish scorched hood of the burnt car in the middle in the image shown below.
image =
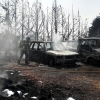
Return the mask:
[[[49,51],[46,51],[46,53],[47,54],[51,54],[51,55],[61,55],[61,56],[78,55],[77,52],[73,52],[73,51],[58,51],[58,50],[55,50],[55,51],[49,50]]]

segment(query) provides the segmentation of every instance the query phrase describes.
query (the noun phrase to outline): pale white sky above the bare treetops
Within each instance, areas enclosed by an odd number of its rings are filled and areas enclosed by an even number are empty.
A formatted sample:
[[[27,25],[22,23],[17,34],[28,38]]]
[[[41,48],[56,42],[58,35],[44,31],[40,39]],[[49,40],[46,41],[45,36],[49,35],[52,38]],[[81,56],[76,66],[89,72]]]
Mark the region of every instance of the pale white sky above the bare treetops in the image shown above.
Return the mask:
[[[32,4],[35,0],[29,0],[30,4]],[[42,3],[44,9],[48,7],[52,7],[54,0],[38,0]],[[75,14],[80,12],[80,16],[83,20],[87,19],[89,26],[91,26],[92,21],[100,14],[100,0],[56,0],[57,5],[61,5],[63,9],[67,12],[72,13],[72,5],[73,11]]]

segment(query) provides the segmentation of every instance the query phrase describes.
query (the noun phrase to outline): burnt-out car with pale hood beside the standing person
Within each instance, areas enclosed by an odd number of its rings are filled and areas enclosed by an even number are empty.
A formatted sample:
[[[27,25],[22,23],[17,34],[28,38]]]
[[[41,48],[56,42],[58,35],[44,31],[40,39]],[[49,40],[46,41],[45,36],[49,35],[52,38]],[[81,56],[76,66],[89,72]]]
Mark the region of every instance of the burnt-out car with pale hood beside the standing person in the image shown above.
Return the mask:
[[[55,64],[75,64],[77,52],[68,51],[63,42],[32,41],[30,44],[30,61]]]

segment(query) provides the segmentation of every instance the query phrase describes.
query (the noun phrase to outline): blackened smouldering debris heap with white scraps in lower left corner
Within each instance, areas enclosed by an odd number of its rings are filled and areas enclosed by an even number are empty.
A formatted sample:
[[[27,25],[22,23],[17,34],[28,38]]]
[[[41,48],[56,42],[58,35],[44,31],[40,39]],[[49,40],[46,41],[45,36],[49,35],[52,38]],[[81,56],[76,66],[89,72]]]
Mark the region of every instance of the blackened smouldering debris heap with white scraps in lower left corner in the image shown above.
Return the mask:
[[[38,87],[34,82],[20,76],[20,71],[3,71],[0,76],[0,100],[49,100],[52,91]]]

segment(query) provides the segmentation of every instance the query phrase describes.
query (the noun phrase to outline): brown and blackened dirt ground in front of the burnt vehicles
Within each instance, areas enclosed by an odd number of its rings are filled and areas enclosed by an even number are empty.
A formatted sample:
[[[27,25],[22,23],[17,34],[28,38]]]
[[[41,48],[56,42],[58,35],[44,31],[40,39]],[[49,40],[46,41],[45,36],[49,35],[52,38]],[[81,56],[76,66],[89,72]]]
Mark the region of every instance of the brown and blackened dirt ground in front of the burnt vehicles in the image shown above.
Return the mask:
[[[36,100],[35,97],[39,100],[51,100],[51,97],[55,100],[68,100],[69,97],[73,100],[100,100],[99,66],[77,63],[75,66],[50,67],[35,62],[30,62],[29,65],[24,62],[20,65],[0,62],[0,71],[2,74],[6,72],[8,76],[7,85],[3,84],[1,92],[4,89],[10,89],[15,94],[18,90],[22,92],[21,95],[10,97],[1,93],[0,100]],[[28,95],[23,97],[25,93]]]

